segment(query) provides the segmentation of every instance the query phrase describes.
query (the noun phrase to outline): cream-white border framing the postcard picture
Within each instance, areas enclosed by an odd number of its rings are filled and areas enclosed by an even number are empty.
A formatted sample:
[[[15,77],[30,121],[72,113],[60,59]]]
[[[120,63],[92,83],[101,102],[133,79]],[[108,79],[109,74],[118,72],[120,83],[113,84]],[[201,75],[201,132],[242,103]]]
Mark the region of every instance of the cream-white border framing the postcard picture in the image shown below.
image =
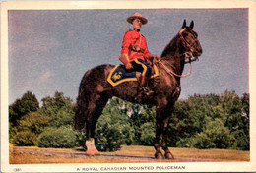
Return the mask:
[[[220,171],[256,171],[256,134],[255,134],[255,92],[252,78],[256,75],[255,29],[256,29],[256,2],[254,0],[216,0],[216,1],[8,1],[1,2],[1,171],[13,172],[21,168],[21,172],[76,172],[77,168],[111,167],[115,164],[9,164],[8,139],[8,10],[43,10],[43,9],[222,9],[248,8],[249,9],[249,92],[250,92],[250,162],[201,162],[201,163],[168,163],[174,166],[186,166],[181,172],[220,172]],[[159,166],[166,163],[132,164],[132,166]],[[119,164],[118,167],[129,167],[131,164]],[[100,169],[99,169],[100,170]],[[157,171],[156,169],[153,171]],[[179,170],[163,170],[175,171]],[[78,171],[79,172],[79,171]],[[128,169],[125,172],[132,172]],[[151,172],[148,170],[147,172]],[[160,172],[160,170],[158,170]]]

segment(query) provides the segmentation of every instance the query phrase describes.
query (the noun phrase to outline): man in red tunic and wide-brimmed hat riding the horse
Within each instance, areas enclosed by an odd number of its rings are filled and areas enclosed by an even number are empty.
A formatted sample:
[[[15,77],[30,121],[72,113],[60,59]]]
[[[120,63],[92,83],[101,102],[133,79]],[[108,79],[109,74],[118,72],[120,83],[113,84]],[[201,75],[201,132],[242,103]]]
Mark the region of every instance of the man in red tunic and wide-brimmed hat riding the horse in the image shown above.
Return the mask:
[[[147,87],[152,69],[146,61],[158,56],[149,52],[146,38],[140,32],[142,25],[147,24],[148,20],[137,12],[128,17],[127,22],[133,25],[133,29],[126,30],[123,35],[119,60],[125,65],[126,70],[141,72],[137,97],[141,99],[143,94],[152,95],[154,93]]]

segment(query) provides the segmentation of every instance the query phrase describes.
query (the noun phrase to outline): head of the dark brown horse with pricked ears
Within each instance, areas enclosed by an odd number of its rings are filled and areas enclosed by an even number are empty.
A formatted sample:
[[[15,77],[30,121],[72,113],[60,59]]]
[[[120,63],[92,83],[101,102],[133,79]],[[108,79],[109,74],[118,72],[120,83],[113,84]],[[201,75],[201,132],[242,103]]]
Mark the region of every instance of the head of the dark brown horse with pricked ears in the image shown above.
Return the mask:
[[[185,52],[192,53],[194,57],[202,54],[203,50],[198,40],[198,34],[193,30],[194,21],[191,21],[189,26],[186,26],[186,20],[183,22],[182,29],[179,31],[179,36],[182,41]]]

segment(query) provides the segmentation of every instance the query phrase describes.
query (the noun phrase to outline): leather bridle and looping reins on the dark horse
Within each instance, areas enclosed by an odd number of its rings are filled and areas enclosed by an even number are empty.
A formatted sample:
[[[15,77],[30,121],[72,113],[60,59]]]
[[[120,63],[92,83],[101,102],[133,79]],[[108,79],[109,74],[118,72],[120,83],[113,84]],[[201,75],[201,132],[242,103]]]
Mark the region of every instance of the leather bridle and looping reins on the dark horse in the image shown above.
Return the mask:
[[[183,46],[185,48],[187,48],[188,51],[186,51],[186,52],[184,52],[182,54],[176,55],[176,56],[179,56],[179,57],[184,56],[185,64],[189,63],[189,72],[186,75],[178,75],[178,74],[174,73],[173,71],[169,70],[161,61],[157,61],[157,63],[160,64],[163,67],[163,69],[169,75],[173,75],[173,76],[180,77],[180,78],[184,78],[184,77],[190,76],[191,75],[191,70],[192,70],[191,62],[198,60],[198,57],[194,57],[193,56],[193,48],[195,46],[195,43],[198,42],[199,40],[196,38],[192,42],[188,42],[187,39],[182,35],[183,31],[185,31],[185,30],[186,30],[186,28],[181,29],[178,32],[178,35],[180,36],[180,40],[181,40]],[[166,60],[166,59],[169,59],[169,58],[159,57],[158,59],[159,60]]]

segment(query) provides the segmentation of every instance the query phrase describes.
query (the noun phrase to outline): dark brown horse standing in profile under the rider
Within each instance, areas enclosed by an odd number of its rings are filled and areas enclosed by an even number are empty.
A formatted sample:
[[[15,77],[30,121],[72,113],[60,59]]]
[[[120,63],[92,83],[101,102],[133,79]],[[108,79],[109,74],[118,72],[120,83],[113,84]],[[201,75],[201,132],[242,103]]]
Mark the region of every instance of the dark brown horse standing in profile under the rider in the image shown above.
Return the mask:
[[[149,82],[150,87],[154,90],[153,96],[145,95],[140,101],[136,99],[139,87],[136,81],[112,87],[106,79],[115,67],[114,65],[103,64],[86,72],[79,88],[74,124],[75,129],[82,129],[86,126],[86,154],[99,154],[94,144],[96,122],[107,100],[112,96],[117,96],[131,102],[157,106],[155,157],[158,159],[174,158],[168,149],[166,138],[169,135],[167,132],[169,118],[181,91],[180,77],[186,61],[191,63],[202,54],[202,48],[197,39],[198,35],[193,27],[193,21],[188,27],[184,20],[182,29],[165,47],[160,58],[155,59],[154,63],[159,69],[159,78],[151,79]],[[165,152],[164,156],[160,151],[160,146]]]

